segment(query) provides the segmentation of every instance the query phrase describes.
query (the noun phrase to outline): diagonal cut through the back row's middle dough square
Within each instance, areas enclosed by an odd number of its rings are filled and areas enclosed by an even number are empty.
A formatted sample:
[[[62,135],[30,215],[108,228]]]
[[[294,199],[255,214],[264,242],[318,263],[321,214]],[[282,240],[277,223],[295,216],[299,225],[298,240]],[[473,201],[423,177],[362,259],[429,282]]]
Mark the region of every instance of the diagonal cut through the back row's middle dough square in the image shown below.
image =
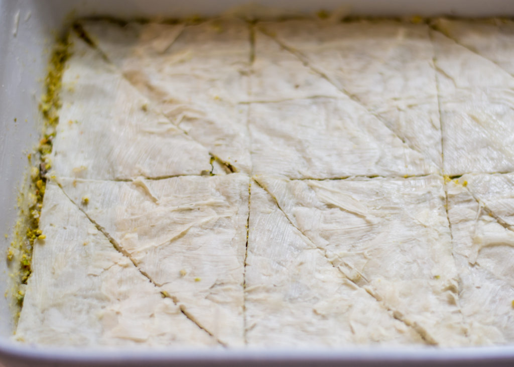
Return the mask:
[[[352,101],[358,103],[362,108],[364,108],[370,115],[374,116],[375,118],[378,119],[378,121],[380,121],[382,123],[382,125],[384,127],[386,127],[386,129],[388,129],[391,134],[393,134],[395,137],[397,137],[398,139],[400,139],[404,144],[406,144],[408,146],[409,149],[421,154],[425,159],[427,159],[429,162],[431,162],[432,164],[434,164],[435,167],[438,167],[438,165],[429,157],[425,156],[425,154],[423,154],[423,152],[420,152],[418,149],[416,149],[414,146],[412,146],[412,144],[410,142],[408,142],[406,139],[400,137],[397,133],[395,133],[386,123],[384,123],[383,119],[370,111],[370,109],[368,107],[366,107],[361,101],[359,98],[357,98],[357,96],[355,96],[354,94],[350,93],[350,91],[344,89],[344,88],[341,88],[340,86],[338,86],[336,83],[334,83],[334,81],[332,80],[332,78],[329,78],[323,71],[321,71],[320,69],[318,69],[317,67],[315,67],[309,60],[308,58],[302,53],[300,52],[299,50],[289,46],[289,45],[286,45],[284,42],[282,42],[281,40],[279,40],[276,36],[274,36],[273,34],[269,33],[266,31],[266,29],[264,29],[263,27],[259,27],[259,31],[263,34],[265,34],[266,36],[268,36],[269,38],[271,38],[273,41],[275,41],[276,43],[278,43],[281,47],[283,47],[285,50],[287,50],[288,52],[290,52],[291,54],[293,54],[293,56],[295,56],[298,60],[300,60],[302,62],[302,64],[304,64],[306,67],[310,68],[311,70],[313,70],[314,72],[316,72],[316,74],[318,74],[320,77],[322,77],[323,79],[325,79],[327,82],[331,83],[332,85],[334,85],[339,91],[341,91],[341,93],[345,94],[347,97],[349,97]]]

